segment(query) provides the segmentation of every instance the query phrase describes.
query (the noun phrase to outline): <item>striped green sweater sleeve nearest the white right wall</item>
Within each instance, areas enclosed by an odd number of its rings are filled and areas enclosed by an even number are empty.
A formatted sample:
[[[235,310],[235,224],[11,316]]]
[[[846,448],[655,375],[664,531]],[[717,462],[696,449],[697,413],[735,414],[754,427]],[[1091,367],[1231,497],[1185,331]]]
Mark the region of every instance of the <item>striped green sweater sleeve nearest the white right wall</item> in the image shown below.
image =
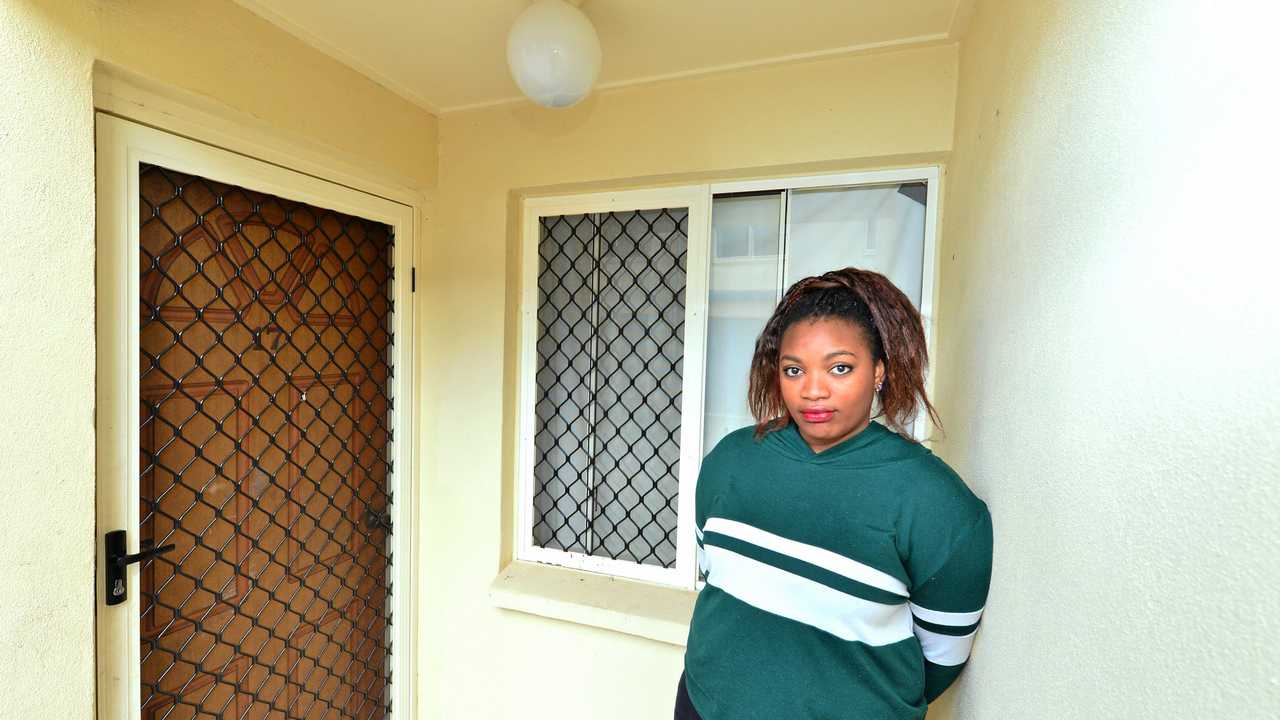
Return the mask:
[[[927,702],[941,696],[969,660],[991,585],[991,512],[978,501],[977,516],[957,534],[931,534],[945,547],[924,556],[943,560],[933,570],[916,568],[920,574],[910,597],[913,632],[924,653]]]

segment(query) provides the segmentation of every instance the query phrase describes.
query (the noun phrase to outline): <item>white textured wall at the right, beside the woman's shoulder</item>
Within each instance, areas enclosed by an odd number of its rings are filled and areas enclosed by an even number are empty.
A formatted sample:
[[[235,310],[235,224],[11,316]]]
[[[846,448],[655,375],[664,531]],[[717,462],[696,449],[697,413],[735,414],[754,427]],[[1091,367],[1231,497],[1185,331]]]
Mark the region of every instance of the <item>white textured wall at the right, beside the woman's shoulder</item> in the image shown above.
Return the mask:
[[[979,5],[940,452],[996,570],[955,716],[1275,717],[1276,10]]]

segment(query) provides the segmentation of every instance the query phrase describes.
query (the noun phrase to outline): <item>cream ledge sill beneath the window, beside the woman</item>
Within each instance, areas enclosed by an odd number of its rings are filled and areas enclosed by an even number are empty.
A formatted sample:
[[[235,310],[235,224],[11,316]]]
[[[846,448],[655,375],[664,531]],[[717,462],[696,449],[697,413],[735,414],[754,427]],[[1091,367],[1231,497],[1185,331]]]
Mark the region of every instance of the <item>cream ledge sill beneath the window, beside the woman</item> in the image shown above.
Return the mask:
[[[684,647],[698,593],[538,562],[512,562],[489,585],[497,607]]]

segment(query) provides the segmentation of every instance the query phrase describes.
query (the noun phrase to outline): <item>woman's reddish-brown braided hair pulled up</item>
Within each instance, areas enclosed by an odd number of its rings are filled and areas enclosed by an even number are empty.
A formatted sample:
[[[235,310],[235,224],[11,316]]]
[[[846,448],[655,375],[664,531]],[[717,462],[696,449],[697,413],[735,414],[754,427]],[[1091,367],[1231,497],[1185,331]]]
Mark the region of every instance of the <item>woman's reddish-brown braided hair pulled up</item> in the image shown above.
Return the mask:
[[[792,284],[756,338],[746,393],[746,402],[755,416],[756,438],[786,427],[790,419],[778,384],[782,334],[800,320],[823,318],[847,320],[860,328],[872,350],[872,360],[884,363],[877,418],[883,418],[890,429],[914,441],[908,427],[923,405],[934,427],[942,427],[924,392],[929,351],[920,314],[884,275],[845,268]]]

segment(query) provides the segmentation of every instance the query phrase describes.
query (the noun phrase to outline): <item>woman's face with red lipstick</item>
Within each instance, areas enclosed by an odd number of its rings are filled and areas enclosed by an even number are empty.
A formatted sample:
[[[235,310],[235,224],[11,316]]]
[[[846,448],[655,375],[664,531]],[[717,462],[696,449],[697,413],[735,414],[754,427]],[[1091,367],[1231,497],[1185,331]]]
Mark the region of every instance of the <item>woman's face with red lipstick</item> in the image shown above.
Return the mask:
[[[800,320],[782,333],[778,384],[800,437],[814,452],[870,423],[884,364],[872,360],[863,331],[849,320]]]

